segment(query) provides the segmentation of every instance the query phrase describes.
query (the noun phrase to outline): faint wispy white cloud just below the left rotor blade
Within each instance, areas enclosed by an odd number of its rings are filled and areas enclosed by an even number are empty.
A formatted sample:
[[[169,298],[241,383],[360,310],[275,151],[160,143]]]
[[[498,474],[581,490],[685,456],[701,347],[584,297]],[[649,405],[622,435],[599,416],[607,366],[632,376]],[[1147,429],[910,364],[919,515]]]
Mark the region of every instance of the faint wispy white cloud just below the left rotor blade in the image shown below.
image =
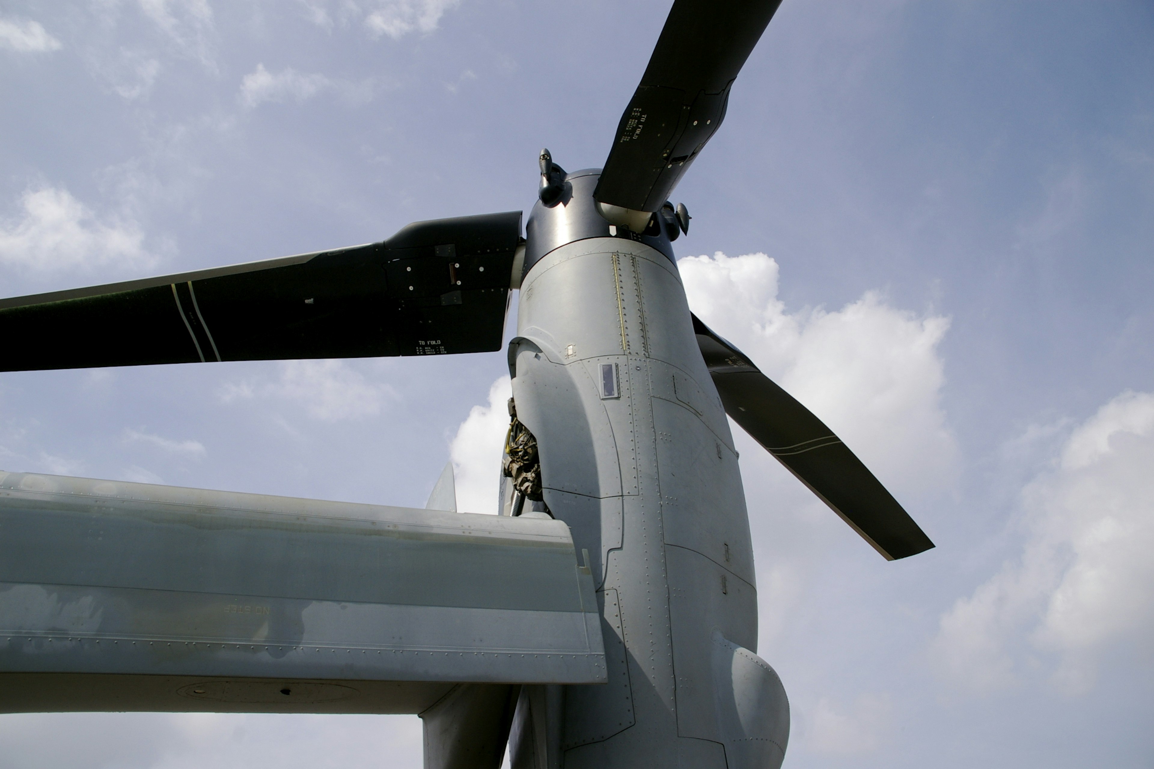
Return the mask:
[[[314,419],[338,422],[376,416],[396,391],[369,382],[345,361],[317,360],[284,361],[276,382],[226,383],[217,395],[226,404],[256,397],[287,400],[302,405]]]

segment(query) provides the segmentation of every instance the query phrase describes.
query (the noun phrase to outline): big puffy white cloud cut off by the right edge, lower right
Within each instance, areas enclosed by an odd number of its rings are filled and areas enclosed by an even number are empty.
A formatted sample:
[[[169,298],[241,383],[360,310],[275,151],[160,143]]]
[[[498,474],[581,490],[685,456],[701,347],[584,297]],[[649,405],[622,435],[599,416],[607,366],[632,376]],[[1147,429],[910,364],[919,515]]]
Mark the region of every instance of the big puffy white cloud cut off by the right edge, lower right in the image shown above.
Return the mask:
[[[941,618],[942,674],[989,692],[1039,657],[1067,694],[1111,651],[1154,634],[1154,393],[1125,392],[1070,433],[1022,492],[1027,538]],[[1025,640],[1022,640],[1025,639]]]

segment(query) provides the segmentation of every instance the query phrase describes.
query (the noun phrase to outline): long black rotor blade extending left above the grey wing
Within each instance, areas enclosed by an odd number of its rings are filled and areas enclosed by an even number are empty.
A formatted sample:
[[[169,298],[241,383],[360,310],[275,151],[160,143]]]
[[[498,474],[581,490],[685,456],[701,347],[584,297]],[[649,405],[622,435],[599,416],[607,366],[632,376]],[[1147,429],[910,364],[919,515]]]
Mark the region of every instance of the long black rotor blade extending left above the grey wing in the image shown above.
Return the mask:
[[[0,371],[501,348],[520,211],[381,243],[0,300]]]

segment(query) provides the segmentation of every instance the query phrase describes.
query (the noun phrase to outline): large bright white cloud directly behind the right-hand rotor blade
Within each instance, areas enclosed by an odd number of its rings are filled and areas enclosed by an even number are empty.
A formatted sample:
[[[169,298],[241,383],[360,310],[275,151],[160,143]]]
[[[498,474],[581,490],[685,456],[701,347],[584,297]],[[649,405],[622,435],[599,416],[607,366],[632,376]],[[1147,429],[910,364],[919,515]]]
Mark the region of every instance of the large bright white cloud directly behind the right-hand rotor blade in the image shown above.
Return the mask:
[[[947,318],[916,316],[868,292],[834,312],[790,314],[765,254],[679,261],[689,306],[809,407],[884,483],[950,485],[959,452],[941,405]]]

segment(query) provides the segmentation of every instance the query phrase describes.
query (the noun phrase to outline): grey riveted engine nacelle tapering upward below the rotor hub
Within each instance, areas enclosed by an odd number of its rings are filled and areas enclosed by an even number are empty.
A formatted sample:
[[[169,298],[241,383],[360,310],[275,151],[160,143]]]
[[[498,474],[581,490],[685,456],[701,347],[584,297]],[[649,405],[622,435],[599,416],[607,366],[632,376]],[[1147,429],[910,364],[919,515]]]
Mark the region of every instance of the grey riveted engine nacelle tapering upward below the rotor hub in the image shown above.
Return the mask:
[[[556,232],[591,212],[591,194],[538,204],[526,254],[541,250],[539,217]],[[788,701],[756,655],[737,454],[676,264],[616,236],[526,264],[514,399],[538,439],[546,505],[590,553],[609,683],[523,687],[512,766],[780,766]]]

